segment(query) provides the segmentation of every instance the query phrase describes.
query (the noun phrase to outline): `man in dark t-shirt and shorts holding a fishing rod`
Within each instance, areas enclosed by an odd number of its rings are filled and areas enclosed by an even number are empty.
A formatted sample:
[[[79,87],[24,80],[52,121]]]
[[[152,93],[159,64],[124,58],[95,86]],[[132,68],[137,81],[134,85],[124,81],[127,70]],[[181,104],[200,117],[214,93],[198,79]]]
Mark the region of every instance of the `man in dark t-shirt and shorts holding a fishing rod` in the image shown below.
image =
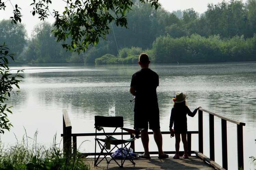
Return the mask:
[[[160,131],[159,108],[156,88],[159,85],[157,73],[148,68],[150,60],[147,54],[140,54],[139,65],[141,70],[132,75],[130,93],[136,96],[134,105],[134,129],[143,128],[141,141],[144,154],[140,158],[150,158],[148,151],[148,124],[154,133],[154,139],[158,148],[158,158],[167,158],[162,151],[162,134]]]

